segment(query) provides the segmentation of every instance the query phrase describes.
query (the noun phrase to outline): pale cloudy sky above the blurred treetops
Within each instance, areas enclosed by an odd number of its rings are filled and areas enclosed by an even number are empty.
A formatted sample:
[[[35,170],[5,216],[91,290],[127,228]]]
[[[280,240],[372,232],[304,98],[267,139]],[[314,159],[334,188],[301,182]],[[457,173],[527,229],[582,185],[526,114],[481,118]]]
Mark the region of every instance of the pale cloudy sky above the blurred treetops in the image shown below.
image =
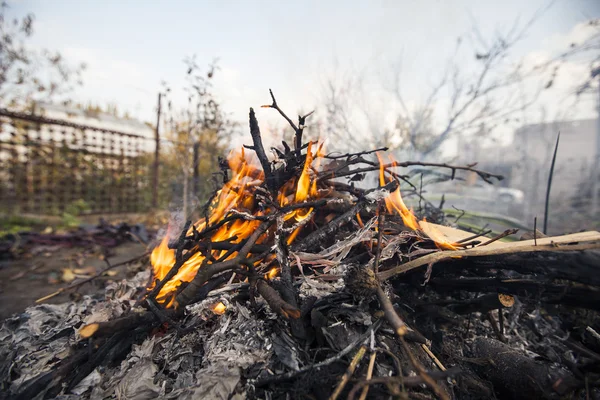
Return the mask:
[[[405,96],[419,104],[443,73],[459,36],[476,25],[491,37],[516,21],[526,24],[548,4],[19,0],[9,1],[9,15],[33,12],[33,45],[88,65],[76,100],[117,104],[135,118],[153,122],[161,81],[182,87],[183,59],[195,54],[201,66],[218,58],[216,93],[224,109],[245,124],[250,106],[270,103],[269,88],[289,114],[322,110],[327,79],[352,71],[368,76],[369,96],[379,108],[374,112],[382,112],[375,101],[385,98],[386,81],[380,78],[400,57]],[[556,0],[529,27],[514,55],[543,59],[577,35],[578,24],[597,17],[597,0]],[[570,74],[584,72],[574,67]],[[593,116],[593,107],[587,108],[582,115]],[[279,125],[274,114],[259,110],[259,121]]]

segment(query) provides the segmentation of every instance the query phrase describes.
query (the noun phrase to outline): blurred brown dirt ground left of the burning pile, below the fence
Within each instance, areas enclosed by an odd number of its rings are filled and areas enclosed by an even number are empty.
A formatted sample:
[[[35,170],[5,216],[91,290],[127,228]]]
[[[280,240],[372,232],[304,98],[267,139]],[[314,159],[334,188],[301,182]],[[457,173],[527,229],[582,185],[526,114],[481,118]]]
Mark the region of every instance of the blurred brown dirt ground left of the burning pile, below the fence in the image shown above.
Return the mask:
[[[111,264],[142,255],[146,248],[126,242],[109,250]],[[17,260],[0,261],[0,321],[34,305],[35,300],[68,286],[73,279],[93,275],[106,268],[101,249],[58,248],[46,249],[35,255]],[[77,291],[62,293],[47,303],[62,303],[73,296],[103,291],[109,281],[126,278],[134,270],[147,267],[142,263],[120,266],[111,272],[79,287]]]

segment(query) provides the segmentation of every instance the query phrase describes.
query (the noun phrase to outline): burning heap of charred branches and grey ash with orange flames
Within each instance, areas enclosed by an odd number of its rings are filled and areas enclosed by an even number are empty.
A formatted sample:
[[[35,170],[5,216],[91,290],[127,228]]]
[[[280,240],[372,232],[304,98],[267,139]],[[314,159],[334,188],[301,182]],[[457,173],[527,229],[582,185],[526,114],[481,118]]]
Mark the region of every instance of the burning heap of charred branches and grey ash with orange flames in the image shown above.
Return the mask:
[[[504,242],[516,230],[485,238],[442,225],[425,199],[417,218],[401,186],[420,193],[397,170],[426,164],[303,144],[307,116],[296,125],[271,96],[293,146],[269,160],[250,109],[253,145],[229,155],[204,218],[169,227],[152,276],[62,317],[29,309],[50,321],[43,337],[31,319],[3,326],[4,390],[22,399],[598,394],[600,233]],[[376,187],[359,187],[366,173]]]

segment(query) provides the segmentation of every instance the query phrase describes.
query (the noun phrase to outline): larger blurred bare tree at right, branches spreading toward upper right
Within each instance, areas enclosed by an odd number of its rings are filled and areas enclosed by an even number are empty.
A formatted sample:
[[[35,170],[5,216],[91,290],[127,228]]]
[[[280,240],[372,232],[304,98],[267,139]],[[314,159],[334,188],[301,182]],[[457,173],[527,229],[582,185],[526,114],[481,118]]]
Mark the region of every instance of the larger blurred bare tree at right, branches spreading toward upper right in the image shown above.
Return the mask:
[[[544,89],[541,81],[531,82],[532,87],[527,91],[522,87],[528,78],[534,75],[539,78],[545,70],[526,66],[523,61],[514,62],[511,53],[543,11],[540,10],[523,25],[515,22],[505,33],[497,33],[491,39],[485,38],[475,25],[466,40],[457,40],[443,76],[433,85],[424,104],[415,110],[406,106],[401,68],[397,68],[393,88],[402,110],[398,118],[405,122],[408,131],[406,145],[426,157],[453,135],[473,134],[482,124],[491,132],[499,124],[516,119],[516,115],[533,105]],[[470,46],[464,51],[475,58],[472,69],[457,61],[465,41]],[[441,97],[449,101],[441,105]],[[443,109],[444,122],[432,131],[432,110],[440,112],[440,108]],[[424,140],[423,136],[427,139]]]

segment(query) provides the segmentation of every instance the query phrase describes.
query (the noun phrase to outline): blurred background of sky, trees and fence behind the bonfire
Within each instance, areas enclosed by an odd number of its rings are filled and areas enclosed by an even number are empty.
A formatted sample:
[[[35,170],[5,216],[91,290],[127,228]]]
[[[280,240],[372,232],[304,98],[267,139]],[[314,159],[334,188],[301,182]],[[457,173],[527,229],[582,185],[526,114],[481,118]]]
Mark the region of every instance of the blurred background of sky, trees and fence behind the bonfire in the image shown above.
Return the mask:
[[[1,232],[193,214],[249,107],[266,146],[291,142],[270,88],[330,152],[503,175],[402,170],[473,229],[541,226],[560,132],[548,232],[600,228],[597,0],[19,0],[0,9]]]

